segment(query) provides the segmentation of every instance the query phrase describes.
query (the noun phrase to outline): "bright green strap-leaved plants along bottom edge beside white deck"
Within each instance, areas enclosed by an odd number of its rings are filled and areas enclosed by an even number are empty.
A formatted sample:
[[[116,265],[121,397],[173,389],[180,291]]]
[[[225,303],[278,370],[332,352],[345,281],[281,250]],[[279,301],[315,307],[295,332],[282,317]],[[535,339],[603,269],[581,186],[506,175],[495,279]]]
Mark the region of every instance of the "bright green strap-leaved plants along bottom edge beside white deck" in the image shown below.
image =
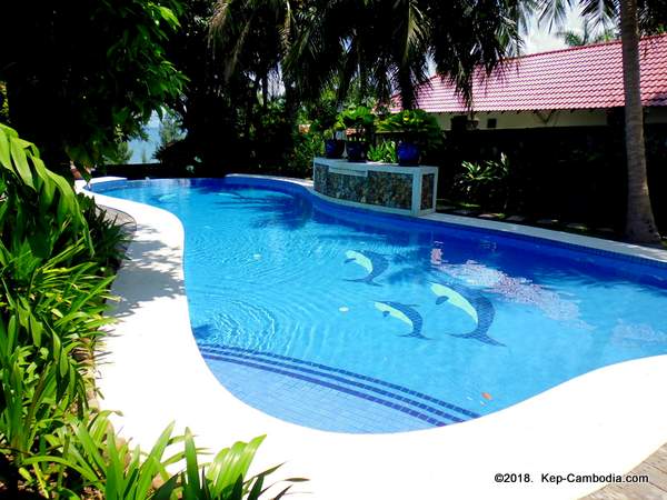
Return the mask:
[[[33,454],[26,464],[40,470],[41,478],[52,479],[54,493],[70,498],[74,487],[93,488],[107,500],[258,500],[272,486],[267,487],[266,479],[280,467],[248,478],[263,437],[248,443],[236,442],[218,452],[210,463],[200,463],[203,452],[195,444],[190,430],[186,429],[183,436],[172,434],[173,423],[146,453],[116,436],[109,412],[99,412],[83,421],[70,419],[49,437],[51,452]],[[168,450],[171,451],[167,453]],[[183,460],[181,471],[169,472],[169,468]],[[23,476],[32,478],[28,471]],[[58,477],[61,479],[56,480]],[[288,486],[273,499],[281,498],[293,483],[305,479],[282,481]]]

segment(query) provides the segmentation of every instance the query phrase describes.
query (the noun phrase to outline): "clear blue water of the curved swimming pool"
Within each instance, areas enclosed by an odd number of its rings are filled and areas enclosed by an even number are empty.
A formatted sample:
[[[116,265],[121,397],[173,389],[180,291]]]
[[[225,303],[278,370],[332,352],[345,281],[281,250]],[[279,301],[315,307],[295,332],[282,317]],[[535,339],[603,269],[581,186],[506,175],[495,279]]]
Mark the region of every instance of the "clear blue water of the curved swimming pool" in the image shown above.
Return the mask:
[[[96,191],[179,217],[192,331],[211,371],[302,426],[446,426],[667,353],[660,264],[344,209],[269,180]]]

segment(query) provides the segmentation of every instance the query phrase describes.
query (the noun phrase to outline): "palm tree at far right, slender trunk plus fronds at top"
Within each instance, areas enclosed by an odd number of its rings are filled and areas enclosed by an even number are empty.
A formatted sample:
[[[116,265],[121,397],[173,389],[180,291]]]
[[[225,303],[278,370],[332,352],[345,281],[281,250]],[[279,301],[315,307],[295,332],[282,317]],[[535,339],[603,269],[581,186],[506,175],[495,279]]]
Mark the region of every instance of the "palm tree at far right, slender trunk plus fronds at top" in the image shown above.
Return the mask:
[[[665,22],[666,2],[665,0],[541,0],[540,19],[547,19],[549,27],[563,26],[567,8],[577,3],[583,7],[586,20],[594,26],[619,28],[623,46],[628,171],[626,238],[637,243],[658,244],[660,234],[653,214],[646,174],[644,111],[639,78],[639,32],[640,28],[650,31],[660,22]]]

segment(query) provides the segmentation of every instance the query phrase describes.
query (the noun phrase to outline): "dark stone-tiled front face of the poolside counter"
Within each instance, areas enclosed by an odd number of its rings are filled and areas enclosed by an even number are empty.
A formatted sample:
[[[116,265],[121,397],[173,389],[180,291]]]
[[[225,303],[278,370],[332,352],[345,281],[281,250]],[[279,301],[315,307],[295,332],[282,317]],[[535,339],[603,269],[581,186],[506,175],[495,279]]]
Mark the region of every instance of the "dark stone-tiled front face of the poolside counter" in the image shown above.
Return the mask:
[[[317,162],[313,169],[315,190],[328,197],[405,210],[410,210],[412,206],[412,176],[408,173],[336,173]]]

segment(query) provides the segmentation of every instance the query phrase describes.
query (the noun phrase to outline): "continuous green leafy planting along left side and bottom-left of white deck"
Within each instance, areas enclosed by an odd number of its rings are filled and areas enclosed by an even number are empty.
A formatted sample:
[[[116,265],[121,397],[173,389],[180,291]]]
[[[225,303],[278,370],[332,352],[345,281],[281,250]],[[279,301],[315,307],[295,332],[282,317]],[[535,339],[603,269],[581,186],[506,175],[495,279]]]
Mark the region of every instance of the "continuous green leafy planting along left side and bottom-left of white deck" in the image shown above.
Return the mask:
[[[172,438],[171,426],[145,454],[117,438],[108,413],[89,408],[122,241],[92,200],[0,124],[0,496],[259,498],[275,469],[246,479],[258,440],[200,466],[189,432]],[[179,442],[185,450],[165,458]],[[167,472],[183,458],[186,473]]]

